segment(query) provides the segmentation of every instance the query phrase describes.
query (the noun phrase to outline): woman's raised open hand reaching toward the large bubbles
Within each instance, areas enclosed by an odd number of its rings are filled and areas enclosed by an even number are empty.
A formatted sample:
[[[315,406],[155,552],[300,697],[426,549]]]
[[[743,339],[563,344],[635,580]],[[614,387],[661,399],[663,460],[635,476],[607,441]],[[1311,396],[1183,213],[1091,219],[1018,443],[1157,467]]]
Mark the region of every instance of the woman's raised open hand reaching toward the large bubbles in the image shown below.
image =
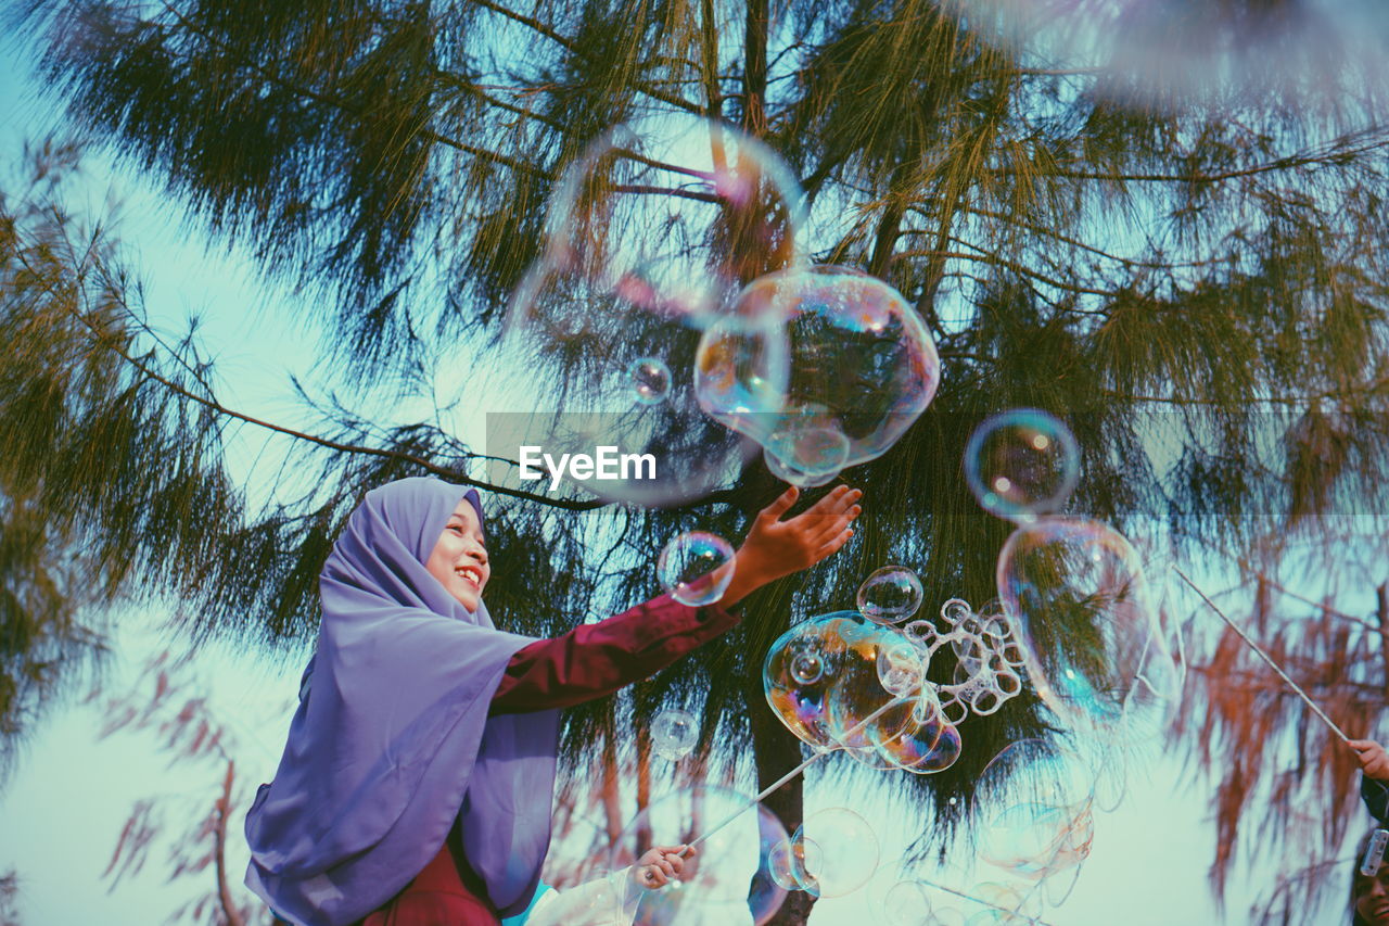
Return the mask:
[[[797,498],[793,485],[758,512],[733,558],[733,580],[721,605],[731,608],[767,583],[814,566],[854,535],[850,524],[863,512],[856,503],[861,491],[839,485],[796,517],[781,520]]]

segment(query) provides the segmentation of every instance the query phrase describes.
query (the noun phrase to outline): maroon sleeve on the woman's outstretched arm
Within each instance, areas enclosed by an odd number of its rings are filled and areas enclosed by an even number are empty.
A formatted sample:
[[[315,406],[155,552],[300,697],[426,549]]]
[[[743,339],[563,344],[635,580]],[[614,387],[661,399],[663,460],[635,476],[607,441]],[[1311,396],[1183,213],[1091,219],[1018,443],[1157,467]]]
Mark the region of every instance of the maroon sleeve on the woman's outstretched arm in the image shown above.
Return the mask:
[[[718,605],[690,608],[669,595],[615,617],[536,640],[511,656],[490,713],[569,708],[640,681],[733,627]]]

